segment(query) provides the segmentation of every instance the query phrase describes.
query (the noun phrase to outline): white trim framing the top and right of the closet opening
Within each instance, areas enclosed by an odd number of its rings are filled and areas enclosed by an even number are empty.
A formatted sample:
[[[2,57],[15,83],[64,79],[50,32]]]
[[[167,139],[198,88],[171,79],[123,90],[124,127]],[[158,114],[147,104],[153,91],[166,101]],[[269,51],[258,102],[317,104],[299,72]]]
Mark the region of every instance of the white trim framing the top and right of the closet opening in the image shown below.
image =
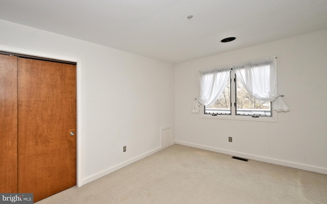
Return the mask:
[[[58,55],[54,53],[44,53],[33,50],[25,50],[20,48],[2,46],[0,44],[0,51],[11,52],[21,55],[31,55],[41,58],[51,58],[60,61],[69,61],[76,63],[76,124],[77,124],[77,138],[76,138],[76,186],[82,187],[83,184],[83,81],[82,81],[82,59],[66,55]]]

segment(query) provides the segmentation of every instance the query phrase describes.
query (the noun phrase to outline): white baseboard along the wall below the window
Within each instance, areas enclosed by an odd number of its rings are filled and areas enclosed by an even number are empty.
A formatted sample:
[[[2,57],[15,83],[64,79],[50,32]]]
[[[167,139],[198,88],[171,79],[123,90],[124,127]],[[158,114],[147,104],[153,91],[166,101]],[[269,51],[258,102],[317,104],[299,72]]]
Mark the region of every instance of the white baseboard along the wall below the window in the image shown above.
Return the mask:
[[[253,155],[253,154],[246,154],[246,153],[242,153],[242,152],[230,151],[230,150],[226,150],[226,149],[198,145],[198,144],[193,144],[193,143],[188,143],[188,142],[183,142],[183,141],[175,141],[175,142],[176,142],[176,144],[179,144],[179,145],[195,147],[195,148],[199,148],[199,149],[204,149],[204,150],[208,150],[208,151],[213,151],[213,152],[218,152],[218,153],[223,153],[223,154],[228,154],[228,155],[233,155],[233,156],[244,157],[244,158],[248,158],[251,160],[266,162],[266,163],[270,163],[270,164],[282,165],[282,166],[286,166],[286,167],[292,167],[292,168],[296,168],[296,169],[327,174],[327,168],[299,164],[299,163],[289,162],[289,161],[284,161],[284,160],[276,160],[275,158],[269,158],[269,157],[258,156],[258,155]]]

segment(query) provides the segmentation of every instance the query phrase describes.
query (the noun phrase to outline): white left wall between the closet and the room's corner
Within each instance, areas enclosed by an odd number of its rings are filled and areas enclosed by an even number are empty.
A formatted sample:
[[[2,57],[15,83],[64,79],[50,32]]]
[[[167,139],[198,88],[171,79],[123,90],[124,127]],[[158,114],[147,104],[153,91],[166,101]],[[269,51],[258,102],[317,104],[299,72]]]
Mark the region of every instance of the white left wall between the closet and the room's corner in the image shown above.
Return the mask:
[[[0,50],[78,61],[80,185],[160,150],[160,128],[175,123],[173,64],[4,20],[0,28]]]

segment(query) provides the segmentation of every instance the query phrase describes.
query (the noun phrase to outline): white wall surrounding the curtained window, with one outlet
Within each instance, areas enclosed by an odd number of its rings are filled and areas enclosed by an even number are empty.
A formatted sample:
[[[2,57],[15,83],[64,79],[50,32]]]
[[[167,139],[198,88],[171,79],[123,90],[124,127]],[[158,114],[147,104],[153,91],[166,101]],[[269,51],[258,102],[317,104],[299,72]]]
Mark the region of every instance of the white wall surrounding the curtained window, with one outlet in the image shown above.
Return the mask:
[[[291,108],[278,113],[277,123],[191,114],[199,70],[274,55],[278,94]],[[176,64],[175,69],[176,143],[327,174],[327,30]]]

